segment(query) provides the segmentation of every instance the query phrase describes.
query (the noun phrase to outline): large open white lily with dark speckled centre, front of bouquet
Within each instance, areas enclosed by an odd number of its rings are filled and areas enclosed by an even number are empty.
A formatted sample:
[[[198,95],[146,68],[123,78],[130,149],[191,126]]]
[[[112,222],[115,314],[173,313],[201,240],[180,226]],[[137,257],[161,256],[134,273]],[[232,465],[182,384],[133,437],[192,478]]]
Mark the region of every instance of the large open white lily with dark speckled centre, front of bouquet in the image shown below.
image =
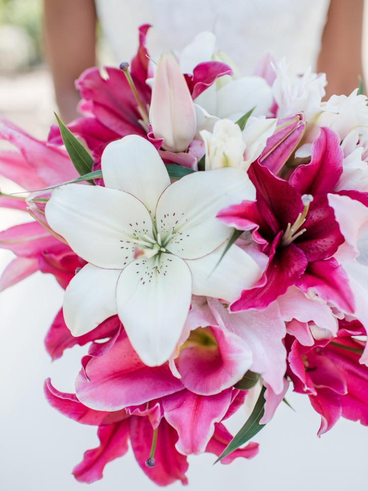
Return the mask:
[[[255,199],[255,189],[235,168],[170,185],[158,152],[138,136],[106,147],[102,173],[106,187],[59,187],[45,209],[88,262],[66,288],[64,319],[81,336],[118,314],[142,361],[160,365],[180,338],[192,293],[230,302],[258,281],[258,265],[236,245],[215,268],[233,233],[216,214]]]

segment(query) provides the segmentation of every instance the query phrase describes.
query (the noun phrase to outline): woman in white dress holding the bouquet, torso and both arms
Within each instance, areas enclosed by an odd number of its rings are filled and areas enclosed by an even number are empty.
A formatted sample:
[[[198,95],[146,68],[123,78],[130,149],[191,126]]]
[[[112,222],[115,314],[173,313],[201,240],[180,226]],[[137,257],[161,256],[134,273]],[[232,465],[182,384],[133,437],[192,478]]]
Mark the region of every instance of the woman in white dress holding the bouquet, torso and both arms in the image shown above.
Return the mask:
[[[362,75],[364,0],[44,0],[45,40],[57,103],[64,121],[74,119],[74,80],[96,64],[96,22],[116,63],[126,61],[141,24],[152,57],[180,50],[201,31],[213,31],[242,74],[271,52],[295,71],[309,65],[325,72],[327,95],[349,94]],[[354,8],[352,8],[354,5]],[[62,40],[62,42],[60,42]]]

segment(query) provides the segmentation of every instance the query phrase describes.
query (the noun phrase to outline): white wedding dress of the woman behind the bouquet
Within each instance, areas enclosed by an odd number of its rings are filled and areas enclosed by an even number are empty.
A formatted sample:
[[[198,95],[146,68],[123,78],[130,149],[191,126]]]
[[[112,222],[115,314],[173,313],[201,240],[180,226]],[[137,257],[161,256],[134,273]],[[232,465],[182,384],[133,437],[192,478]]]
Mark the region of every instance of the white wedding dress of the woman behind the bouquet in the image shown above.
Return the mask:
[[[104,35],[116,62],[127,61],[137,28],[153,25],[148,38],[155,59],[180,51],[196,34],[212,31],[217,48],[251,74],[267,52],[286,56],[292,68],[315,68],[330,0],[96,0]]]

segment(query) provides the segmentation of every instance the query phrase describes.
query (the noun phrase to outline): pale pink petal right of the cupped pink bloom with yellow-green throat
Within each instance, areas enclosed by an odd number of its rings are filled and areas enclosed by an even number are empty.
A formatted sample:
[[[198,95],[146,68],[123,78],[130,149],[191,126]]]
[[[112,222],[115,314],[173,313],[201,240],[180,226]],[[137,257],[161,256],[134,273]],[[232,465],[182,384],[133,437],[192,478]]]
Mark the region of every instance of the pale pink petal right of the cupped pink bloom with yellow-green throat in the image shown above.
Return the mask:
[[[250,370],[260,373],[274,392],[280,394],[286,371],[286,350],[282,342],[286,328],[277,303],[263,311],[249,309],[235,314],[229,313],[217,300],[209,299],[209,305],[219,327],[234,332],[249,346],[253,353]]]

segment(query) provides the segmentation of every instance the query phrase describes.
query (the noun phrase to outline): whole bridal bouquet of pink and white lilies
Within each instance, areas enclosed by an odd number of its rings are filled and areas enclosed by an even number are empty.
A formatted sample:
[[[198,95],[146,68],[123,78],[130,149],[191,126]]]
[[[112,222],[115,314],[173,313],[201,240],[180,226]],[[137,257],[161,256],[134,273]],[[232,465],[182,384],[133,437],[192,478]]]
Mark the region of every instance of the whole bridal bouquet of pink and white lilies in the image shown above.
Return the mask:
[[[0,286],[41,271],[65,288],[45,346],[89,347],[75,394],[45,394],[98,427],[73,471],[87,483],[129,441],[159,485],[186,484],[191,454],[252,458],[289,386],[318,435],[368,425],[362,89],[322,101],[323,74],[270,57],[243,77],[208,32],[153,61],[148,29],[130,64],[81,75],[83,116],[47,142],[0,125],[18,150],[0,172],[29,191],[0,205],[34,218],[0,233],[16,256]]]

